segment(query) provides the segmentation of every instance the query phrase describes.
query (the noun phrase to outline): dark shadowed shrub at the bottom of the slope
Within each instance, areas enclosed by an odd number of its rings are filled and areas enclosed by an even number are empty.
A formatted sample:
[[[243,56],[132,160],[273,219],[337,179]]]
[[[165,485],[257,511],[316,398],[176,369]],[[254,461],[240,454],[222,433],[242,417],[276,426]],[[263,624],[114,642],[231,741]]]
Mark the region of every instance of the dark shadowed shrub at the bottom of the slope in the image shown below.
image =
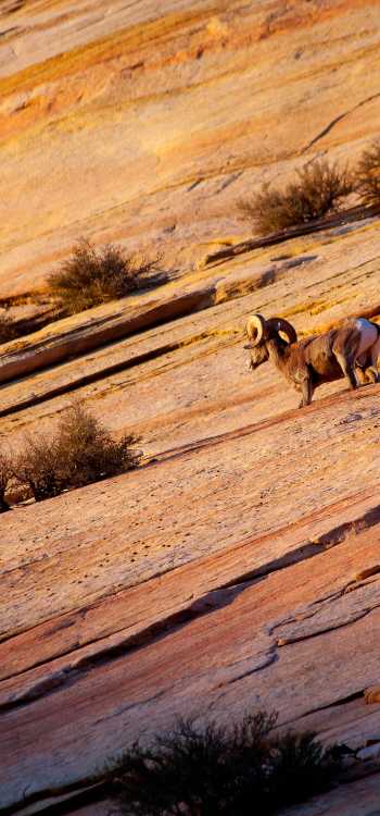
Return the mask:
[[[268,816],[337,771],[314,733],[269,735],[275,721],[263,712],[230,728],[178,719],[111,764],[111,795],[128,816]]]

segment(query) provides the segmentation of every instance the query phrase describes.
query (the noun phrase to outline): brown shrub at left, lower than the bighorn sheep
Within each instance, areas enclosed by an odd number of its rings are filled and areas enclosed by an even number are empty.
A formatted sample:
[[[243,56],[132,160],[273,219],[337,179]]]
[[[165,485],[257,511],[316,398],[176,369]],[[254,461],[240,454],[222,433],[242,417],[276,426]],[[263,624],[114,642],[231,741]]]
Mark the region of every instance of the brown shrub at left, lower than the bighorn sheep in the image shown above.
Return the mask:
[[[74,403],[61,417],[54,436],[26,435],[13,474],[41,502],[137,467],[141,454],[131,449],[137,442],[134,434],[114,442],[99,420]]]

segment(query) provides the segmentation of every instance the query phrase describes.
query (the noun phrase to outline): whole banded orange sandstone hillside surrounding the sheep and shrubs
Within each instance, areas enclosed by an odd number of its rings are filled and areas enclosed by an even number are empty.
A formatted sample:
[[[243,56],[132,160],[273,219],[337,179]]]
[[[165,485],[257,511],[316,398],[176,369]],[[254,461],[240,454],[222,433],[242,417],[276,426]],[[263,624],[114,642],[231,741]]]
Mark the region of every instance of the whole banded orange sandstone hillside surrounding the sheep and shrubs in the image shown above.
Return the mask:
[[[164,246],[181,269],[2,347],[5,450],[76,398],[116,438],[140,434],[143,458],[1,516],[0,806],[72,811],[107,757],[176,714],[266,708],[368,774],[289,814],[369,816],[380,384],[330,383],[297,410],[269,363],[246,370],[243,327],[256,312],[301,337],[380,323],[380,218],[235,254],[249,236],[233,201],[379,129],[377,8],[154,5],[1,10],[4,298],[40,286],[79,227]]]

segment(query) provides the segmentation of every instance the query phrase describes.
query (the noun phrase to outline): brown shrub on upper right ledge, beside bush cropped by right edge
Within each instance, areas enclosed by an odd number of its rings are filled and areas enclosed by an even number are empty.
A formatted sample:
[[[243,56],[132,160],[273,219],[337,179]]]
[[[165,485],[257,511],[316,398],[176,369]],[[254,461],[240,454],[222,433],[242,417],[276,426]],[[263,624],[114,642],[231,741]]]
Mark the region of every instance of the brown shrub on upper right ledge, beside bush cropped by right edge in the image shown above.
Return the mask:
[[[239,201],[244,218],[255,222],[261,234],[286,230],[339,210],[343,199],[354,189],[349,169],[320,159],[296,171],[296,178],[284,189],[262,190],[251,200]]]

